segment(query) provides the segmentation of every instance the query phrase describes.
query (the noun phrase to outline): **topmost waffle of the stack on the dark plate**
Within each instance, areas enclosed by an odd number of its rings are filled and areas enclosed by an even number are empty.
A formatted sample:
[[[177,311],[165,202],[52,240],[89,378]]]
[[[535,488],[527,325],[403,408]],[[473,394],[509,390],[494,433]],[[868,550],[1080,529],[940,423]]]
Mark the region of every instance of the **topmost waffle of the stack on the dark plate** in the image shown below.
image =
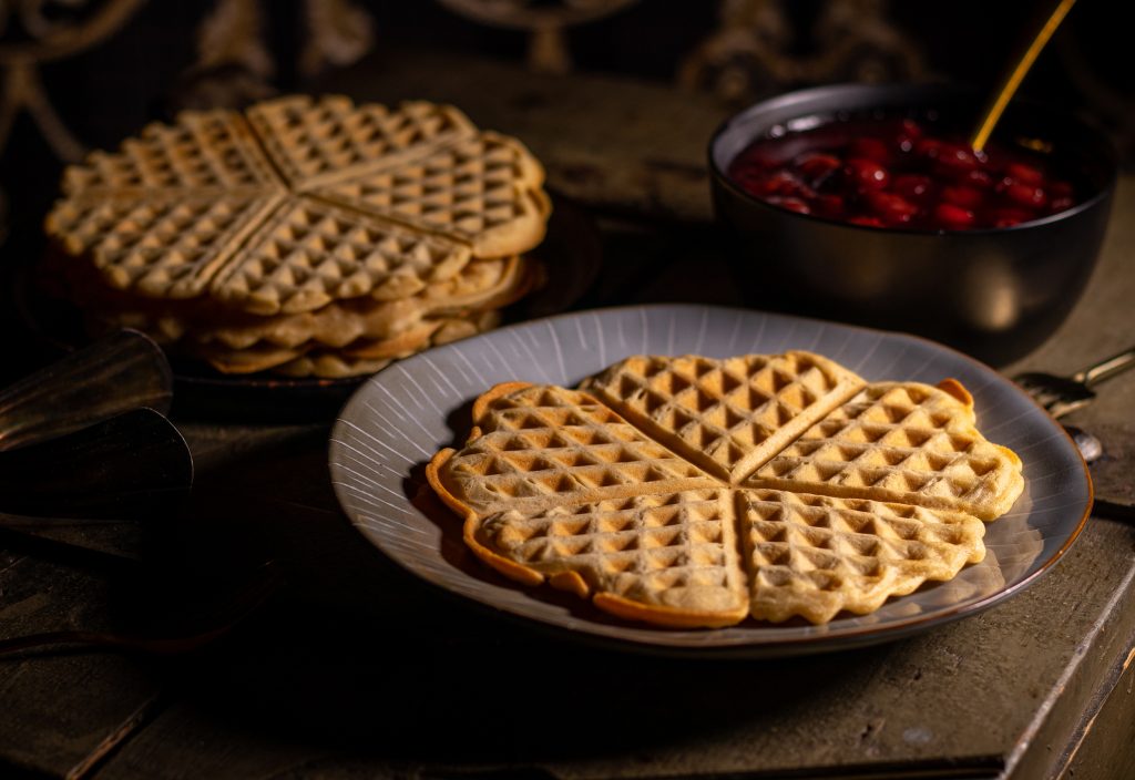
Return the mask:
[[[382,204],[334,193],[330,203],[320,203],[327,198],[314,196],[331,185],[361,192],[376,171],[398,183]],[[415,185],[415,177],[424,178]],[[174,125],[146,127],[116,152],[92,153],[65,172],[64,197],[47,230],[68,253],[84,256],[95,232],[146,246],[145,265],[154,273],[145,288],[136,274],[116,269],[119,253],[93,248],[96,268],[116,289],[150,297],[208,295],[230,308],[270,315],[339,297],[412,295],[473,256],[528,252],[543,239],[548,215],[543,178],[519,143],[478,130],[451,107],[417,102],[390,109],[294,96],[243,116],[185,112]],[[179,244],[154,220],[99,219],[101,212],[92,210],[104,201],[131,210],[209,200],[280,206],[275,214],[250,213],[239,236],[183,220]],[[335,215],[321,221],[318,212]],[[318,224],[297,224],[304,220]],[[318,235],[295,240],[306,228]],[[246,243],[253,230],[257,240]],[[364,246],[370,238],[381,246]],[[187,262],[186,243],[210,260]],[[159,271],[162,263],[170,268]],[[212,285],[216,274],[220,281]],[[161,287],[162,278],[174,277],[178,285]]]

